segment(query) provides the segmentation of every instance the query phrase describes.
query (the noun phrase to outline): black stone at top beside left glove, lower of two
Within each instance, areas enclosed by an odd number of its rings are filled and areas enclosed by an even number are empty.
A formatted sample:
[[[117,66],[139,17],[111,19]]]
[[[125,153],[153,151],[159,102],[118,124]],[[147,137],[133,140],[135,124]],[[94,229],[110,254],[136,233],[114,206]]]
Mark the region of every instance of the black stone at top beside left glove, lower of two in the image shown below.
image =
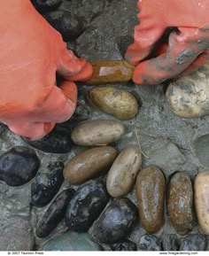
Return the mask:
[[[63,36],[64,41],[71,41],[83,33],[81,19],[71,12],[47,12],[44,18]]]

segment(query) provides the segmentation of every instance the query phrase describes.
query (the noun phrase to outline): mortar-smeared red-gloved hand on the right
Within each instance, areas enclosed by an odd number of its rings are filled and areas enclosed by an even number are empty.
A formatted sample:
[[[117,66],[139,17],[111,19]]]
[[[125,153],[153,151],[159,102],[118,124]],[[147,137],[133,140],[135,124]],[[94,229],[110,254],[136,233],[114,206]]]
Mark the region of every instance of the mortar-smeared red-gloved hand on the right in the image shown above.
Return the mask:
[[[209,58],[208,0],[139,0],[140,24],[125,58],[135,65],[133,81],[159,84],[184,70],[191,72]],[[160,39],[174,27],[166,44]],[[177,28],[177,29],[176,29]],[[155,58],[150,54],[155,53]]]

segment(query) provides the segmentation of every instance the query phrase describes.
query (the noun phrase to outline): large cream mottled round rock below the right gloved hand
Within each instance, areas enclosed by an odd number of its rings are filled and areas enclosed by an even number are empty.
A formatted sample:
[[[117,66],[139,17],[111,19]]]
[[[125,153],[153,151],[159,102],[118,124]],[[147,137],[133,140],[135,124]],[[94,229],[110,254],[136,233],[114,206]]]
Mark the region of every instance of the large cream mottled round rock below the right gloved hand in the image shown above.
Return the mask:
[[[166,90],[170,109],[183,118],[209,114],[209,64],[174,80]]]

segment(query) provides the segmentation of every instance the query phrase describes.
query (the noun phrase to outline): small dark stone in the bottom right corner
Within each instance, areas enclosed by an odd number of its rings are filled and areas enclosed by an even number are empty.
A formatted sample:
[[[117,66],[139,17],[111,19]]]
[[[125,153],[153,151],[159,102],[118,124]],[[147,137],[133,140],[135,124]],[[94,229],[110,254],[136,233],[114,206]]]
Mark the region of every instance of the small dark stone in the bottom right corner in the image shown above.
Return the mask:
[[[190,234],[181,239],[180,251],[205,251],[207,238],[202,234]]]

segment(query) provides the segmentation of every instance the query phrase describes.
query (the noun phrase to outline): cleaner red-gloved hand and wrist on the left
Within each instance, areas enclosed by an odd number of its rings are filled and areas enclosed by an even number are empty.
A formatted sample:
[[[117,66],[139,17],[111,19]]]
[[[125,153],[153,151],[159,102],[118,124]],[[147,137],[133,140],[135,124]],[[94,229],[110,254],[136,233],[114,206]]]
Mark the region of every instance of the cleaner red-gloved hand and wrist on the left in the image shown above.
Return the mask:
[[[6,0],[0,9],[0,121],[37,140],[74,112],[77,89],[92,66],[77,58],[29,0]],[[56,73],[67,81],[56,85]]]

